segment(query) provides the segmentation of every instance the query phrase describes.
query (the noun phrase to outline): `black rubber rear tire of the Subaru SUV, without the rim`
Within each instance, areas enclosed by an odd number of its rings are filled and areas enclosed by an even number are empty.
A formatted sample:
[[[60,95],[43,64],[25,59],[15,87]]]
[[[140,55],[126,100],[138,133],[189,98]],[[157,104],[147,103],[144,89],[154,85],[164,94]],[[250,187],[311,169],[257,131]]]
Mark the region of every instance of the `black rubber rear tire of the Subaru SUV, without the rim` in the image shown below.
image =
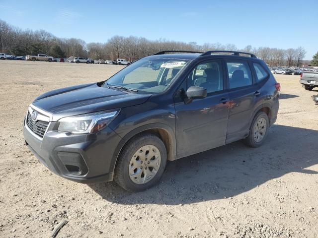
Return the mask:
[[[261,119],[261,118],[265,119],[265,121],[266,121],[266,130],[265,130],[265,133],[264,133],[264,137],[261,139],[261,141],[258,141],[258,142],[257,142],[257,141],[254,139],[254,133],[255,133],[254,127],[255,127],[257,121],[258,121],[259,119]],[[263,142],[265,141],[266,137],[267,137],[268,129],[269,129],[269,119],[268,119],[267,114],[264,113],[264,112],[258,112],[258,113],[255,115],[255,117],[254,117],[254,119],[253,119],[253,121],[252,121],[252,124],[251,124],[251,126],[250,126],[250,128],[249,128],[249,134],[248,134],[248,136],[247,136],[245,139],[243,139],[244,144],[247,145],[247,146],[249,146],[249,147],[253,147],[253,148],[256,148],[256,147],[261,146],[261,145],[263,144]]]

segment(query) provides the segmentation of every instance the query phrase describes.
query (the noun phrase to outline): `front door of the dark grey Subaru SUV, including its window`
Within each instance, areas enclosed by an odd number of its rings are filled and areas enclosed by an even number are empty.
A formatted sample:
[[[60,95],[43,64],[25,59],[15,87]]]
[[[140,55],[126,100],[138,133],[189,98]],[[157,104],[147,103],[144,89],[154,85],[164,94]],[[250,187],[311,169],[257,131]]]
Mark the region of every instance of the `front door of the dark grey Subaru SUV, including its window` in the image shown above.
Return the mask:
[[[177,158],[225,144],[229,116],[229,95],[222,60],[198,64],[180,90],[192,86],[207,89],[207,97],[186,104],[175,99]]]

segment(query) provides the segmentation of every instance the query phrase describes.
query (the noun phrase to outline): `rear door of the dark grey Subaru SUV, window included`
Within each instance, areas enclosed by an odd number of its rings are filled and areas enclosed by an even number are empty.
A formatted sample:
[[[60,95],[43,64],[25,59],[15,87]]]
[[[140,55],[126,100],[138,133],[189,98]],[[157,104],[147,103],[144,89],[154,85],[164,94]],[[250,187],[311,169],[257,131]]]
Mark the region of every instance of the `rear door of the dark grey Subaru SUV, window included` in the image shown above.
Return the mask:
[[[231,100],[226,142],[230,143],[247,135],[261,92],[253,84],[253,74],[247,60],[226,59],[226,65]]]

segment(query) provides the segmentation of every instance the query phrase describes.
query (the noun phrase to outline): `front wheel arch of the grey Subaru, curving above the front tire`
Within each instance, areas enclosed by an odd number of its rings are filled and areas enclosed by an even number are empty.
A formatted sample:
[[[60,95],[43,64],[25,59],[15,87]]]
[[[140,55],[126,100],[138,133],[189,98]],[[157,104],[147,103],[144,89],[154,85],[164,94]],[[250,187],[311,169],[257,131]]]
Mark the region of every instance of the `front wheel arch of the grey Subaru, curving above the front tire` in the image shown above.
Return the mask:
[[[124,146],[132,140],[135,136],[139,136],[141,134],[154,134],[158,136],[163,144],[165,145],[167,151],[167,160],[173,161],[176,159],[176,140],[174,136],[174,131],[168,125],[163,123],[152,123],[148,125],[144,125],[138,127],[129,133],[127,133],[118,144],[115,153],[113,155],[112,164],[111,164],[111,171],[115,170],[115,166],[117,164],[117,159],[120,156]]]

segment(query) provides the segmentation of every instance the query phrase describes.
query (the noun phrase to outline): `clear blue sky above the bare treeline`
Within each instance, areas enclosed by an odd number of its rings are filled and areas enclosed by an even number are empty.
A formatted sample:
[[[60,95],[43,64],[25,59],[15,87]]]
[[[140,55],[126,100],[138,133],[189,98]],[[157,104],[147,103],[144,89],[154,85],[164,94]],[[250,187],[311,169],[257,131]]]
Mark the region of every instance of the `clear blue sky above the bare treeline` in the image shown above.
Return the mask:
[[[58,37],[114,35],[318,51],[318,0],[0,0],[0,19]]]

